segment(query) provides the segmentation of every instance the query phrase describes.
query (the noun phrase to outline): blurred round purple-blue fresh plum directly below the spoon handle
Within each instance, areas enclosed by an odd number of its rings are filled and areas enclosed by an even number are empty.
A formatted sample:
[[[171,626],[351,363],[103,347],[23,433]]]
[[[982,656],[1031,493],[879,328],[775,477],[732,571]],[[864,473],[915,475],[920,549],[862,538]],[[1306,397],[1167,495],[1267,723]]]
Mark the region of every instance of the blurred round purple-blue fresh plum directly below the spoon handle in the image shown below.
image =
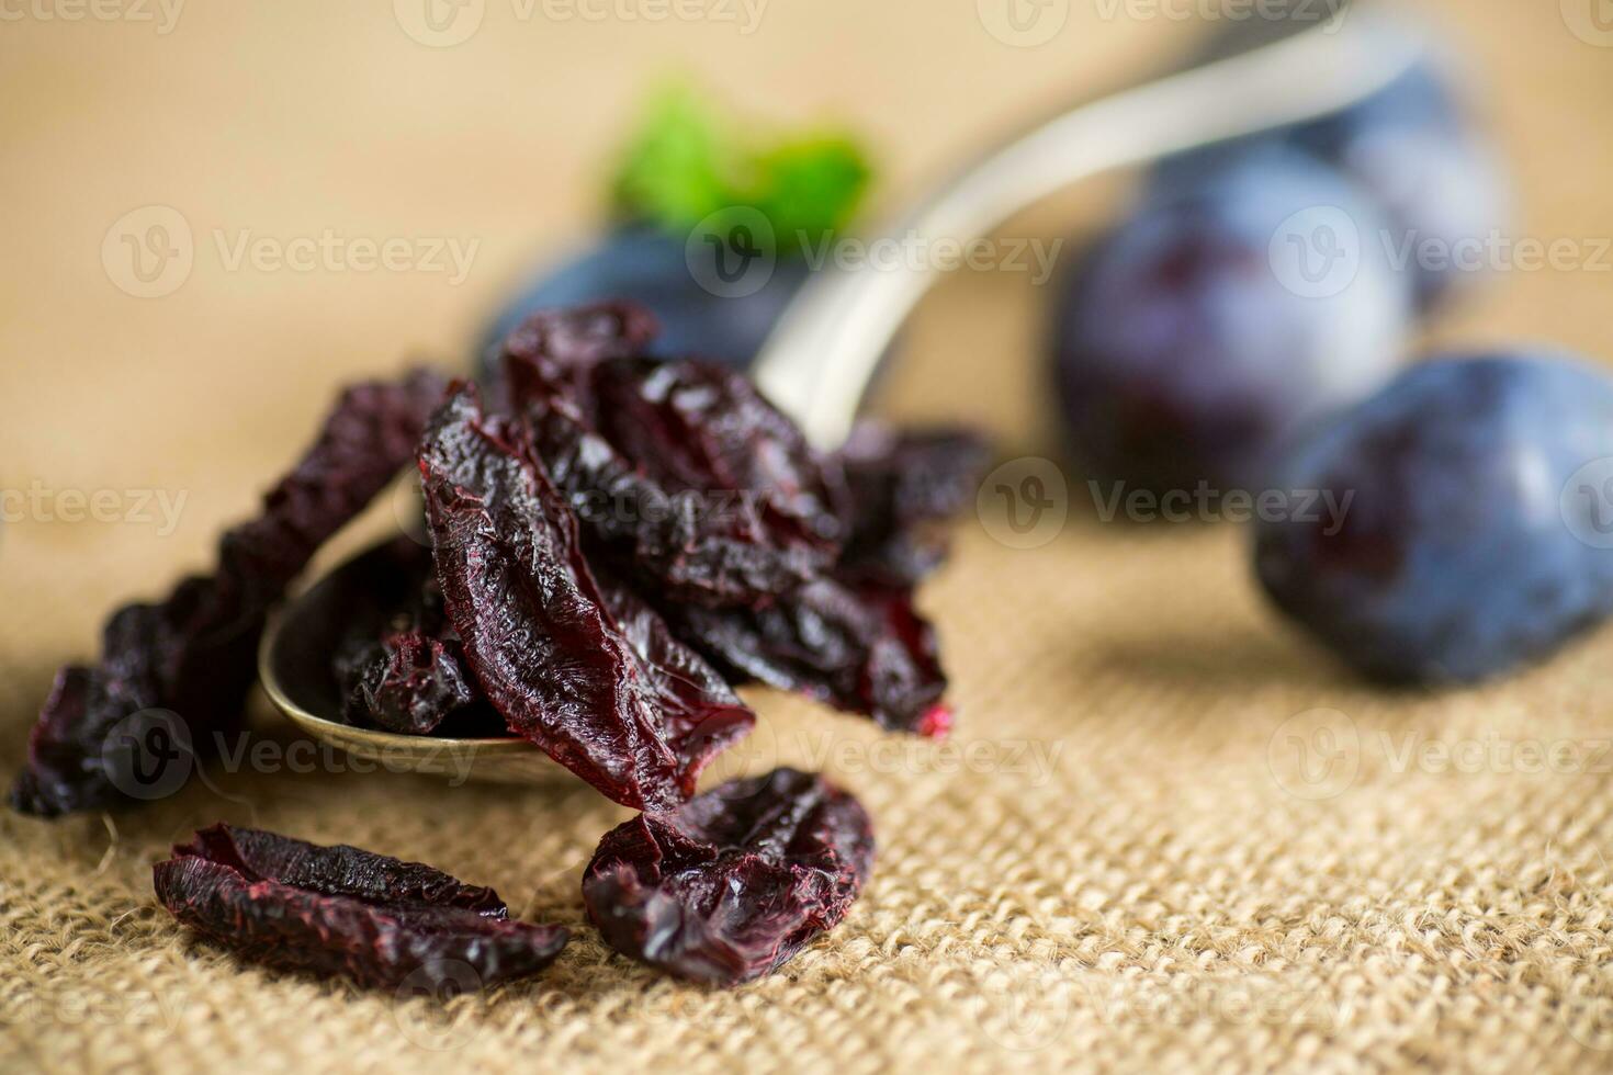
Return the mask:
[[[1376,243],[1337,292],[1302,293],[1273,240],[1297,213],[1382,218],[1303,155],[1240,158],[1163,193],[1061,284],[1055,385],[1089,477],[1153,488],[1253,488],[1273,448],[1395,369],[1410,295]]]

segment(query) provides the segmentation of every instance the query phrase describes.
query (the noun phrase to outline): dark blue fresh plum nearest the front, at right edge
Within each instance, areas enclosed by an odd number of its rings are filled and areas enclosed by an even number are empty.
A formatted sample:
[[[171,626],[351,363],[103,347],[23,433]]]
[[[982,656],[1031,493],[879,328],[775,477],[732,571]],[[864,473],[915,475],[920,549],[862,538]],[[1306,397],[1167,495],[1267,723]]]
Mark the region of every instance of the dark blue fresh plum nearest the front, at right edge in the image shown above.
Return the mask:
[[[1431,361],[1294,448],[1284,487],[1352,501],[1342,525],[1263,522],[1255,569],[1277,608],[1369,677],[1495,677],[1613,612],[1613,551],[1581,540],[1607,530],[1605,490],[1568,488],[1610,456],[1600,371]]]

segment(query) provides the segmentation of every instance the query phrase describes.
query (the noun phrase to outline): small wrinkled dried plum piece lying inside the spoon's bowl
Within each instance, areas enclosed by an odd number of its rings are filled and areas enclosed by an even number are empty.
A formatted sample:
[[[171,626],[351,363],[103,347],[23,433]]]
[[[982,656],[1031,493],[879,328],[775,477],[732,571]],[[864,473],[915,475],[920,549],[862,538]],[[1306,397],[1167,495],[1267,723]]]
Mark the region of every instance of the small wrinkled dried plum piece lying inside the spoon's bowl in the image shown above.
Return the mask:
[[[344,716],[382,732],[429,735],[476,704],[477,693],[456,641],[418,630],[387,635],[350,674]]]

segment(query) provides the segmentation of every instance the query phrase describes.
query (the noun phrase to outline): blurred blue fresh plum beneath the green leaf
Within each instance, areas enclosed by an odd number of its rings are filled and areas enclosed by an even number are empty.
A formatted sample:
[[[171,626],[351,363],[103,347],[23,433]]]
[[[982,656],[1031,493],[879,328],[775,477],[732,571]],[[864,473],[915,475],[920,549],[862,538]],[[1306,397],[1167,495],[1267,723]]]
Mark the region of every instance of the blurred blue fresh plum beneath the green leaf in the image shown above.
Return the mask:
[[[545,268],[492,319],[481,343],[484,377],[497,379],[498,345],[540,309],[629,300],[661,322],[652,353],[700,355],[745,369],[806,279],[798,256],[781,256],[771,279],[745,297],[713,295],[689,268],[687,235],[650,226],[619,227],[576,258]],[[698,245],[697,256],[716,256]]]

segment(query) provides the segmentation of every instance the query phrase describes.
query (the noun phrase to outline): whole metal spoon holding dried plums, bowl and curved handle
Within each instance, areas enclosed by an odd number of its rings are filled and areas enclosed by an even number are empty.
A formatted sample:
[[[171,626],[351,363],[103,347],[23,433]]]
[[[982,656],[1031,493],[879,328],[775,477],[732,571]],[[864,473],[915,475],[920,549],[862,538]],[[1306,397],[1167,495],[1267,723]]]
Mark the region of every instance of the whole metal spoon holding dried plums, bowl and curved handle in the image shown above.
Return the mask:
[[[1323,11],[1323,8],[1326,11]],[[1290,18],[1250,19],[1213,61],[1079,105],[939,187],[892,235],[968,243],[1081,179],[1340,111],[1405,74],[1423,42],[1348,0],[1300,0]],[[763,392],[823,446],[852,427],[892,337],[934,268],[824,269],[802,288],[756,359]],[[258,672],[269,699],[308,735],[394,770],[481,780],[573,778],[526,740],[442,740],[340,722],[329,637],[361,601],[373,554],[339,567],[265,632]]]

